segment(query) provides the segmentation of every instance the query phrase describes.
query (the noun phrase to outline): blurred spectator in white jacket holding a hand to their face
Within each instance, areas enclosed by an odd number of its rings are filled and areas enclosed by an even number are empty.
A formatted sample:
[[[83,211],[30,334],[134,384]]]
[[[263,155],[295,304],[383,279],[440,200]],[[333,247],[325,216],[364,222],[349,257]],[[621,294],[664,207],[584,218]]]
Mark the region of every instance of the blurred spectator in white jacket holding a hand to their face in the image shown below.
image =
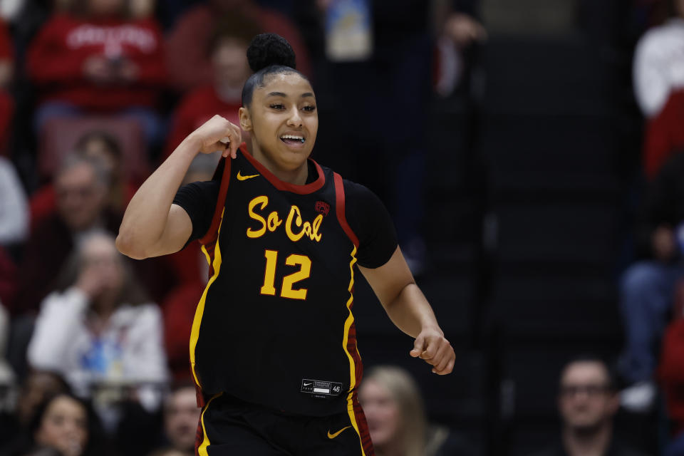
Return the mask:
[[[76,246],[41,304],[28,361],[61,373],[83,396],[98,385],[136,390],[167,380],[160,311],[145,300],[110,234],[88,234]]]

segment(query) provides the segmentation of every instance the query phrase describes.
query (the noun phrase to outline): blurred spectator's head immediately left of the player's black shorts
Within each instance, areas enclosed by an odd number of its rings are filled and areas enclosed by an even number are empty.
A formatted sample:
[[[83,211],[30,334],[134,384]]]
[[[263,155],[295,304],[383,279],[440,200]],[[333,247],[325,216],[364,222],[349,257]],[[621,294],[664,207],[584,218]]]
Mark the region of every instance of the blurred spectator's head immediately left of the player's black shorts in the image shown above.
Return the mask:
[[[172,390],[164,404],[164,433],[170,444],[168,451],[176,451],[182,456],[195,455],[200,413],[194,385],[187,383]]]

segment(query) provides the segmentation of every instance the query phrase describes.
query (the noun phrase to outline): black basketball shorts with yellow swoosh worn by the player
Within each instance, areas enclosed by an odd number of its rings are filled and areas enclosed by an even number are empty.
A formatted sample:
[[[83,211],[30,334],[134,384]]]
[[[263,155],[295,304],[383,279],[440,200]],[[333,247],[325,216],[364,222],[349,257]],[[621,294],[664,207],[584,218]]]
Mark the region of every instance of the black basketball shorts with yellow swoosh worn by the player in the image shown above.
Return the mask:
[[[337,415],[286,415],[226,394],[211,398],[199,418],[197,456],[373,456],[356,397]]]

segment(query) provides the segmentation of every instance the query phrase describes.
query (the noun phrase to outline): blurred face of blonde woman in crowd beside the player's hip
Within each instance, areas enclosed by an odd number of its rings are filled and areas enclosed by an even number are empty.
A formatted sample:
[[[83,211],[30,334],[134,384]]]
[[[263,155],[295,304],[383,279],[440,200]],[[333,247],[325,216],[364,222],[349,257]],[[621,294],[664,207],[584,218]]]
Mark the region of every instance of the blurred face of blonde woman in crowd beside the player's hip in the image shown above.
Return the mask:
[[[395,441],[400,434],[400,411],[387,388],[368,379],[361,385],[358,398],[366,415],[373,445],[382,447]]]

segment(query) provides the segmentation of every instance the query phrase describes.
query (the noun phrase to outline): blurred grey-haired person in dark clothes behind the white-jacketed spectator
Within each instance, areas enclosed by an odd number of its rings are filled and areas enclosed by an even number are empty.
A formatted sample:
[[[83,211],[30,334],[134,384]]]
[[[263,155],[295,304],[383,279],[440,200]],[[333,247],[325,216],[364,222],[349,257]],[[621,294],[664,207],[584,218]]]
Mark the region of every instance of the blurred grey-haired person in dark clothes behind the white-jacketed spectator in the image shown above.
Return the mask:
[[[120,215],[107,209],[110,176],[99,160],[66,157],[54,180],[57,212],[39,222],[19,265],[12,314],[38,309],[73,246],[94,229],[118,229]]]

